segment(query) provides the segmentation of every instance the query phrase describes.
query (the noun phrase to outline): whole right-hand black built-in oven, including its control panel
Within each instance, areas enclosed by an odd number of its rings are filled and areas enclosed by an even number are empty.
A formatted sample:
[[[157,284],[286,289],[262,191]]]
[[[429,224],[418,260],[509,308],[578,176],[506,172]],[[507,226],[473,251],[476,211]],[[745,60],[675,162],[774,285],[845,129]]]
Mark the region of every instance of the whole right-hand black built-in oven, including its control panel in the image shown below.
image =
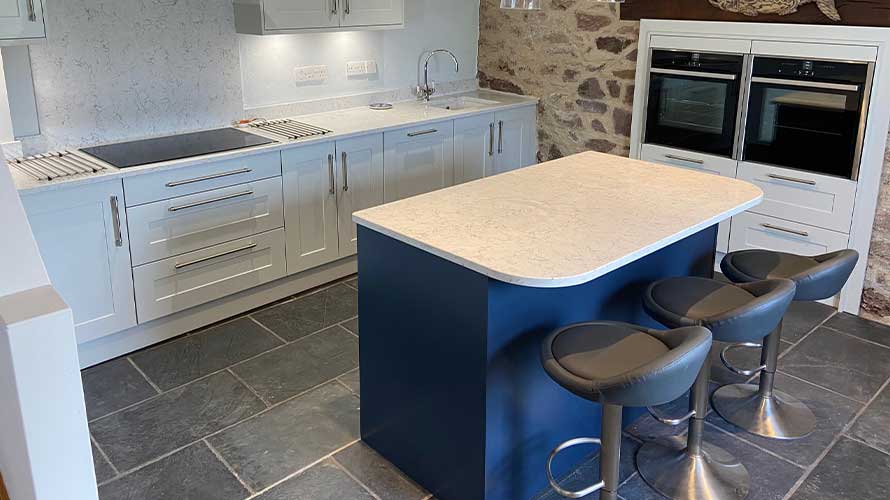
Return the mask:
[[[754,57],[741,159],[857,180],[873,63]]]

